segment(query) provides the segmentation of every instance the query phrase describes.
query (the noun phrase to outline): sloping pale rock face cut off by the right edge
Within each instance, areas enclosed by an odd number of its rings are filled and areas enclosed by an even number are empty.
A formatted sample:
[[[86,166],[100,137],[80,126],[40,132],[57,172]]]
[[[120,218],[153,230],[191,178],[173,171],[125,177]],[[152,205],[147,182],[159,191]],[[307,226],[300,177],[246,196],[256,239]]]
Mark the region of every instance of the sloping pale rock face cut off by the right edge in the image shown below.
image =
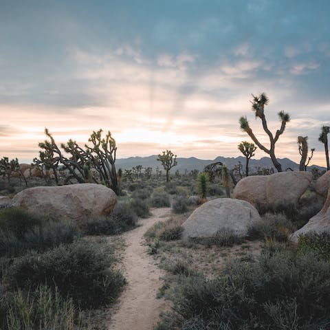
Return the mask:
[[[292,241],[297,242],[301,234],[307,234],[315,232],[320,234],[321,232],[330,232],[330,189],[328,190],[327,200],[322,210],[318,214],[314,215],[309,221],[299,230],[292,234]]]

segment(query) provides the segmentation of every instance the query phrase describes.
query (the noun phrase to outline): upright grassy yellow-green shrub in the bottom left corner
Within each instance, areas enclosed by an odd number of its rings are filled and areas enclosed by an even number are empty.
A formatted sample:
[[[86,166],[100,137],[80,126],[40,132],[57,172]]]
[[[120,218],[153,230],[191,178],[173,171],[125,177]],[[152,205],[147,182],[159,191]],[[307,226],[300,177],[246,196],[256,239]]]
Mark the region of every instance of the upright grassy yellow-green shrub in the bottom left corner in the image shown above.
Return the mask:
[[[72,299],[62,298],[58,291],[40,285],[35,292],[19,290],[7,298],[6,314],[0,325],[3,330],[21,329],[87,329]],[[1,313],[0,313],[1,317]]]

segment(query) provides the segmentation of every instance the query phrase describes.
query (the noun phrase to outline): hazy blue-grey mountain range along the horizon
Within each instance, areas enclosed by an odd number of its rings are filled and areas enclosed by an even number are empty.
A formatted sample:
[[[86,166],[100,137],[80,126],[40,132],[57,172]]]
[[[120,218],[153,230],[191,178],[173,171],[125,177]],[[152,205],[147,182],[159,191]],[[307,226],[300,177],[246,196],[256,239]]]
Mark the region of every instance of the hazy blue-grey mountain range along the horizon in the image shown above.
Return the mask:
[[[185,170],[188,170],[188,172],[190,172],[190,170],[195,170],[195,169],[203,170],[205,166],[207,166],[208,164],[212,164],[214,162],[222,162],[223,164],[228,166],[228,168],[234,168],[236,164],[239,164],[239,162],[241,162],[241,164],[243,165],[243,169],[245,168],[245,157],[243,156],[239,156],[239,157],[219,156],[213,160],[198,159],[196,157],[189,157],[189,158],[180,157],[177,158],[177,166],[173,167],[171,171],[173,171],[174,173],[176,170],[179,170],[181,173],[184,173]],[[296,164],[291,159],[278,158],[278,162],[281,163],[283,170],[285,170],[286,168],[292,168],[292,170],[299,169],[299,164]],[[148,157],[129,157],[129,158],[116,159],[115,161],[116,168],[122,168],[123,170],[131,169],[137,165],[142,165],[143,168],[151,167],[153,169],[155,169],[158,166],[159,169],[161,170],[163,169],[162,164],[157,161],[157,155],[152,155]],[[274,168],[274,165],[272,163],[272,159],[270,159],[269,157],[262,157],[261,159],[250,159],[250,163],[249,163],[250,173],[253,173],[258,167]],[[317,165],[312,165],[309,166],[308,168],[311,167],[317,167],[320,170],[325,170],[324,167]]]

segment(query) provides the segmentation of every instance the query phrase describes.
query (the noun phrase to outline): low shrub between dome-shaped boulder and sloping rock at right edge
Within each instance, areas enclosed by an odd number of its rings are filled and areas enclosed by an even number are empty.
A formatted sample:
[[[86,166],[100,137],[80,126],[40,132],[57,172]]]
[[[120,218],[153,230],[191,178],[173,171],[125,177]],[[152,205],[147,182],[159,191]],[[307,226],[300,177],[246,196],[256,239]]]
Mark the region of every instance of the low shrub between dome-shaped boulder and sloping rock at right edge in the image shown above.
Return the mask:
[[[283,213],[266,213],[259,221],[254,221],[248,228],[250,239],[269,239],[287,241],[288,235],[296,230],[296,227]]]

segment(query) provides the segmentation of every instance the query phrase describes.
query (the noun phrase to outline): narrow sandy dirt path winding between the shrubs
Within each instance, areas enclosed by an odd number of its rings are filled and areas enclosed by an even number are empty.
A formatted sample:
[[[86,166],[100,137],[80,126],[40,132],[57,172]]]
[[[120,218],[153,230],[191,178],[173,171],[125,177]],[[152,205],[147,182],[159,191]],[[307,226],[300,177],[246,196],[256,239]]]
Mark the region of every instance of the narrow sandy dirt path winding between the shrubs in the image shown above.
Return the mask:
[[[169,208],[155,208],[153,215],[140,221],[141,226],[123,236],[127,244],[124,252],[124,276],[128,284],[120,296],[108,330],[153,330],[159,320],[159,311],[164,300],[156,294],[163,275],[155,261],[147,254],[143,235],[157,221],[166,220]]]

